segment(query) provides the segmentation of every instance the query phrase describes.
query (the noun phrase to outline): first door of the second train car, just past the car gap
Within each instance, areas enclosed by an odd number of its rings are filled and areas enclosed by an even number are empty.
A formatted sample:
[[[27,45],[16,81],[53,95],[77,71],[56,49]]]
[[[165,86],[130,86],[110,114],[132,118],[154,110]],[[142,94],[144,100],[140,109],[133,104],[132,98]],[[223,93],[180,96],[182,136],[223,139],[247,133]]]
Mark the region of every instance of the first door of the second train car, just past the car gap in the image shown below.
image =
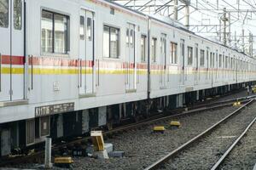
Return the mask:
[[[160,52],[160,87],[166,87],[166,34],[161,35]]]

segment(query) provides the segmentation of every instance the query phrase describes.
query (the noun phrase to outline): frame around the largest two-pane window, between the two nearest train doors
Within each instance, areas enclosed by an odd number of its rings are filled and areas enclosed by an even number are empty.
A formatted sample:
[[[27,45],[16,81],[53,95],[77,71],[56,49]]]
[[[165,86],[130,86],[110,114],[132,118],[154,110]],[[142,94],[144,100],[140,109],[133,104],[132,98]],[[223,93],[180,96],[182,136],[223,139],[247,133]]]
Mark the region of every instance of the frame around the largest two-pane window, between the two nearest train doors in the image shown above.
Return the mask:
[[[52,51],[51,52],[43,52],[42,50],[42,14],[43,12],[47,12],[47,13],[50,13],[52,14],[52,18],[51,18],[51,21],[52,21]],[[66,17],[67,19],[67,31],[66,31],[66,37],[67,37],[67,42],[65,42],[65,53],[55,53],[55,14],[57,15],[61,15],[63,17]],[[80,16],[80,15],[79,15]],[[40,51],[41,51],[41,54],[44,54],[44,55],[68,55],[69,52],[70,52],[70,15],[69,14],[61,14],[59,12],[55,12],[54,10],[49,10],[47,8],[41,8],[41,15],[40,15]]]

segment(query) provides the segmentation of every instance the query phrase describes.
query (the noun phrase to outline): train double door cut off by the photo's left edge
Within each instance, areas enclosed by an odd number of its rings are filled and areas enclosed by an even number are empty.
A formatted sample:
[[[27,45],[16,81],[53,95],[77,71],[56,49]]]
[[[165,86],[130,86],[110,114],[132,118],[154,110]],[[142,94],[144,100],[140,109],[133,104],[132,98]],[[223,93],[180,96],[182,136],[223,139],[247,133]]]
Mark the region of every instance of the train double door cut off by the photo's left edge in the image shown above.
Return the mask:
[[[0,100],[24,99],[24,4],[0,1]]]

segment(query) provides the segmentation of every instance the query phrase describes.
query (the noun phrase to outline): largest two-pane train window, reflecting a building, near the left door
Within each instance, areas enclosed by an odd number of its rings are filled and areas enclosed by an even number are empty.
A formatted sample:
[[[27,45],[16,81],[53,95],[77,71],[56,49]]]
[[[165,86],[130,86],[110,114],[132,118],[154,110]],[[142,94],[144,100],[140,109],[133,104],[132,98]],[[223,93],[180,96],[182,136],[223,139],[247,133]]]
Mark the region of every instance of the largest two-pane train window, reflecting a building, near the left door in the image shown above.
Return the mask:
[[[68,20],[69,17],[66,15],[42,11],[41,50],[43,53],[67,54]]]

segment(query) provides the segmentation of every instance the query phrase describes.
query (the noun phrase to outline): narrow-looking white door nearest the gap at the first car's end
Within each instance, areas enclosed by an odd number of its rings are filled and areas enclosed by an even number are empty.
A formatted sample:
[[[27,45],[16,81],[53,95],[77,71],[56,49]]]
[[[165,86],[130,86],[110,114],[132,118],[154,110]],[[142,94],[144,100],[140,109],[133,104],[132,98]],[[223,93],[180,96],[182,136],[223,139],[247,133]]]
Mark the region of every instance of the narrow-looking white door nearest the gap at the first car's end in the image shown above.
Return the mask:
[[[135,25],[126,25],[126,90],[136,89]]]

